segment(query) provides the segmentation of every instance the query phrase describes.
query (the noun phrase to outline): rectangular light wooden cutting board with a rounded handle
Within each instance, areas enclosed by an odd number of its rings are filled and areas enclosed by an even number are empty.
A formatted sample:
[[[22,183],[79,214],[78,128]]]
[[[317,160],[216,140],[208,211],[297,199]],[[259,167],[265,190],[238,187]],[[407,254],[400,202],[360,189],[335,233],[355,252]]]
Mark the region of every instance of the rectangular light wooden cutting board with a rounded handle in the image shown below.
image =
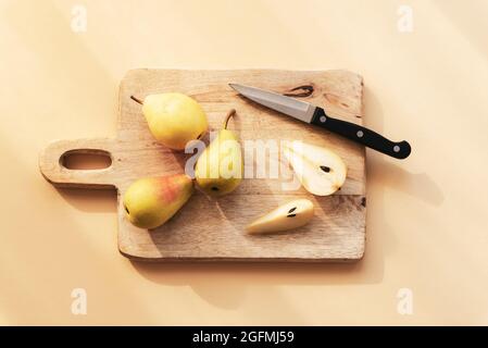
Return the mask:
[[[118,249],[130,259],[305,262],[361,259],[366,215],[364,147],[246,100],[228,87],[232,82],[288,94],[325,107],[331,116],[362,123],[362,77],[346,71],[133,70],[121,84],[117,137],[52,142],[40,156],[40,171],[55,186],[116,188]],[[281,185],[290,182],[289,176],[249,178],[236,191],[217,200],[197,191],[173,219],[154,231],[134,227],[122,207],[122,197],[130,183],[145,176],[183,173],[186,159],[191,157],[157,144],[141,107],[129,98],[135,95],[143,99],[150,94],[168,91],[184,92],[198,100],[211,129],[218,129],[226,112],[236,109],[229,129],[241,141],[303,140],[331,148],[348,165],[345,186],[334,196],[315,197],[303,188],[284,190]],[[112,164],[102,170],[68,170],[62,164],[63,156],[74,152],[108,153]],[[245,149],[245,153],[251,152]],[[315,216],[306,226],[270,236],[243,233],[253,219],[300,197],[315,203]]]

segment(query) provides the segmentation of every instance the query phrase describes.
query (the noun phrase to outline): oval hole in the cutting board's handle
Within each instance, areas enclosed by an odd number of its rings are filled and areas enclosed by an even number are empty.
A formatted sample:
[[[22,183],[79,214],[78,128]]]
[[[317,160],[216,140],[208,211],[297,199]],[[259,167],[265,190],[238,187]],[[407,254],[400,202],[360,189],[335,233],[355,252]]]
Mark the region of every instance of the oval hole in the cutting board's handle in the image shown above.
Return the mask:
[[[112,157],[104,150],[70,150],[61,156],[60,164],[68,170],[103,170],[112,165]]]

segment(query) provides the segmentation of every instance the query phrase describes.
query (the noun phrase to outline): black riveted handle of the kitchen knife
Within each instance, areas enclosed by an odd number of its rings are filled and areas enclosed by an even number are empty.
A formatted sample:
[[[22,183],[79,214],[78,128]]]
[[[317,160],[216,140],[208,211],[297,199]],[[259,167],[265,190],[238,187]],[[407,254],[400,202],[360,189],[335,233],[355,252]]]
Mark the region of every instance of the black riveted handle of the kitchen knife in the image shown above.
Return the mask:
[[[363,126],[329,117],[321,108],[315,109],[311,123],[396,159],[403,160],[412,151],[410,144],[405,140],[400,142],[388,140]]]

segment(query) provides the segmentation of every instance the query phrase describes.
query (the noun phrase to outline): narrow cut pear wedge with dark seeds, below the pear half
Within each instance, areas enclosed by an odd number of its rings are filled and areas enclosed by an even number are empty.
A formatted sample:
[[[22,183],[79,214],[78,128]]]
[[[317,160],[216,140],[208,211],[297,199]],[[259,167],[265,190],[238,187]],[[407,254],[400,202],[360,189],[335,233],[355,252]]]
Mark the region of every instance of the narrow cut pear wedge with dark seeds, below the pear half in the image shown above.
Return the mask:
[[[313,203],[308,199],[283,204],[246,227],[249,234],[267,234],[301,227],[313,217]]]

